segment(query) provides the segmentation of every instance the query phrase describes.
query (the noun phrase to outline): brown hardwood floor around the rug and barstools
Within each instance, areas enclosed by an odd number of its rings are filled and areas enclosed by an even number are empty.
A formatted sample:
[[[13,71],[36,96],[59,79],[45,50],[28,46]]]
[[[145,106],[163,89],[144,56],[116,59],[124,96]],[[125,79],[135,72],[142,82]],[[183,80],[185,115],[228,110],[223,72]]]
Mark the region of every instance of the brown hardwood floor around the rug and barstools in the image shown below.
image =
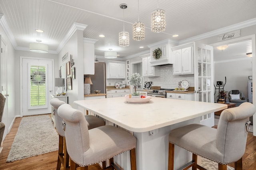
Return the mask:
[[[7,156],[12,147],[12,142],[18,131],[21,119],[22,118],[20,117],[15,119],[10,133],[4,139],[4,149],[0,153],[0,170],[56,170],[58,151],[6,163]],[[252,133],[248,133],[246,151],[242,157],[242,161],[243,170],[256,169],[256,137],[254,137]],[[234,167],[232,164],[230,164],[230,166]],[[97,164],[89,166],[89,170],[100,170],[100,166]]]

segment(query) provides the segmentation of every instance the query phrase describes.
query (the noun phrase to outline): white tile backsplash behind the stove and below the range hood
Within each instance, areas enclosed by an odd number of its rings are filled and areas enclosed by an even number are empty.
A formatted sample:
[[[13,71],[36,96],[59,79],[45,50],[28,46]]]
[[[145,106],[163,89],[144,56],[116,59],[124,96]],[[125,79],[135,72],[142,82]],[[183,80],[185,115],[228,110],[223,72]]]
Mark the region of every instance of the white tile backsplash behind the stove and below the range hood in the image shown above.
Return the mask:
[[[188,80],[190,87],[194,87],[194,74],[173,75],[172,65],[160,67],[160,77],[144,77],[144,82],[153,82],[152,86],[174,89],[181,80]]]

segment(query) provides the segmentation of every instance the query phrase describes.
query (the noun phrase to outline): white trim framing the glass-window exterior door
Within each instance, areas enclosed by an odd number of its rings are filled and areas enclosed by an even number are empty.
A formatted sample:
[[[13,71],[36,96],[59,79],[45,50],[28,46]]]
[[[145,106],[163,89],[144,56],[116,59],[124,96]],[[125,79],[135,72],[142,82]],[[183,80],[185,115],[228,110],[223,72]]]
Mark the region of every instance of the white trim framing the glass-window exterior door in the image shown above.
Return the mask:
[[[22,95],[23,95],[23,90],[22,90],[22,84],[23,84],[23,80],[22,80],[22,60],[23,59],[38,59],[38,60],[50,60],[52,61],[52,87],[54,87],[54,59],[45,59],[45,58],[36,58],[36,57],[23,57],[20,56],[20,117],[23,117],[23,111],[22,111],[22,107],[23,107],[23,100],[22,100]]]

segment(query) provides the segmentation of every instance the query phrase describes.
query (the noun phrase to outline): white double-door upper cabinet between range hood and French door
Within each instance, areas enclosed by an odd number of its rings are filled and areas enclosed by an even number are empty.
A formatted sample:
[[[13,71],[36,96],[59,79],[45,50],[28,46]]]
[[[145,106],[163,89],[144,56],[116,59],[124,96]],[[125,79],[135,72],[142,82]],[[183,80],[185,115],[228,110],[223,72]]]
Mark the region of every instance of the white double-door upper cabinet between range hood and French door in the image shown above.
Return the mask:
[[[194,74],[192,47],[174,50],[173,61],[173,74]]]

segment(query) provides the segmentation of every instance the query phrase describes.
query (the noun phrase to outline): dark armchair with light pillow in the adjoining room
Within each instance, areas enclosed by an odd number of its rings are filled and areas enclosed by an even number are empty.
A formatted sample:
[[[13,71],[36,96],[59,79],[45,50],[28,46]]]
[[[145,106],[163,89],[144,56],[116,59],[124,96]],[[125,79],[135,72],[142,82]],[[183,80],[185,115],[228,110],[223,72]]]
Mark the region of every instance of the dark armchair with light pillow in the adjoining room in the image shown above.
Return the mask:
[[[239,95],[238,95],[239,94]],[[231,90],[228,92],[228,99],[230,102],[235,103],[236,107],[240,104],[247,102],[248,98],[244,96],[243,92],[239,90]]]

